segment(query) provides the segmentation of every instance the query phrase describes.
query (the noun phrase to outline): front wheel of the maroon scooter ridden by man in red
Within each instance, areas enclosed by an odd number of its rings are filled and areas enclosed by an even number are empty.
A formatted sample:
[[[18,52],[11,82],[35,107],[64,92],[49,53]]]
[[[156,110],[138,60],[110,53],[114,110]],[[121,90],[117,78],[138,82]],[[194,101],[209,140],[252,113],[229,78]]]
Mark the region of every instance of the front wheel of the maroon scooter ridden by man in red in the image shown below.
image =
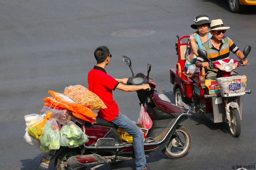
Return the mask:
[[[178,140],[174,132],[165,148],[162,149],[163,154],[165,154],[165,156],[171,159],[178,159],[185,156],[188,150],[190,149],[192,141],[191,135],[186,128],[179,125],[176,129],[184,145],[181,145],[181,142]]]

